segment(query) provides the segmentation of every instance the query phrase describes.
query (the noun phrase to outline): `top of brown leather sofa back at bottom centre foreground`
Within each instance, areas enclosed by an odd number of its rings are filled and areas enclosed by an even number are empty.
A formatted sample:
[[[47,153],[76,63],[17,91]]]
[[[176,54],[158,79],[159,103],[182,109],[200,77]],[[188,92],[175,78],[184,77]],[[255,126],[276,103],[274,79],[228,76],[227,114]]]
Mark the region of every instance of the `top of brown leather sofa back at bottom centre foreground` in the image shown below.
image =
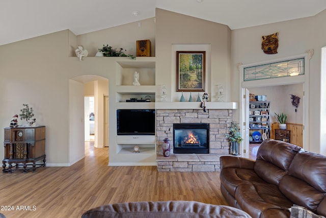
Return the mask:
[[[204,204],[196,201],[157,201],[107,204],[90,209],[82,218],[250,218],[251,216],[225,205]]]

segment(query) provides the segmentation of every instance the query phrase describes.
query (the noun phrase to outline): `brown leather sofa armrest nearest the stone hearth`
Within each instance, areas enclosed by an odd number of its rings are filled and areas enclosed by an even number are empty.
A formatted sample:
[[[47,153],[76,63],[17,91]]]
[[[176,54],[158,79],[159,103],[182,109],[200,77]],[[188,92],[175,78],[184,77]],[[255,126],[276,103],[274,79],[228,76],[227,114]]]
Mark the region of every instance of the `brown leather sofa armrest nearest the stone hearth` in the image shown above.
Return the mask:
[[[233,168],[243,168],[243,169],[254,169],[254,160],[243,158],[243,157],[233,157],[233,156],[222,156],[220,157],[221,171],[226,167]]]

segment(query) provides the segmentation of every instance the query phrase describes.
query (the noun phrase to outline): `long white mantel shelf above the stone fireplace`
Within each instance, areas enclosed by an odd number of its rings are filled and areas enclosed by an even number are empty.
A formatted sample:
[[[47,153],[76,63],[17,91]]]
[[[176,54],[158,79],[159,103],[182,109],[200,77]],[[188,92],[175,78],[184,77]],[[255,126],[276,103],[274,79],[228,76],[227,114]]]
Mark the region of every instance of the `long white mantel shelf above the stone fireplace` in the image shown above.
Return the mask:
[[[237,102],[206,102],[207,109],[238,109]],[[155,109],[202,109],[200,102],[155,102]]]

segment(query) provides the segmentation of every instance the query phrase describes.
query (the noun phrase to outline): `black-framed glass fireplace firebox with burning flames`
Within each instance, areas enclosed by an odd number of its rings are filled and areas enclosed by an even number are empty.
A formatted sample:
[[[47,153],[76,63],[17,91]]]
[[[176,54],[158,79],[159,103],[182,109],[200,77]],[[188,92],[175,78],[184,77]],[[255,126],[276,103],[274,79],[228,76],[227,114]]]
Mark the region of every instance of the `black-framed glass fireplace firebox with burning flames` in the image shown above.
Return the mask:
[[[173,124],[174,154],[208,154],[209,124]]]

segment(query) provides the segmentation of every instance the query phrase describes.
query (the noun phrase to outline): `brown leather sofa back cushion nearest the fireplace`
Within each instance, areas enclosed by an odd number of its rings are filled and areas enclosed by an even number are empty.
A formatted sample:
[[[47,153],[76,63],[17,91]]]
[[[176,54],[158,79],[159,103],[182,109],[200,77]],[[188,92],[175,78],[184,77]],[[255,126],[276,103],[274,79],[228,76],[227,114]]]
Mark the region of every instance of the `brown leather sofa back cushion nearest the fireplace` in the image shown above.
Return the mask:
[[[278,185],[300,150],[294,144],[266,139],[258,149],[254,171],[266,182]]]

